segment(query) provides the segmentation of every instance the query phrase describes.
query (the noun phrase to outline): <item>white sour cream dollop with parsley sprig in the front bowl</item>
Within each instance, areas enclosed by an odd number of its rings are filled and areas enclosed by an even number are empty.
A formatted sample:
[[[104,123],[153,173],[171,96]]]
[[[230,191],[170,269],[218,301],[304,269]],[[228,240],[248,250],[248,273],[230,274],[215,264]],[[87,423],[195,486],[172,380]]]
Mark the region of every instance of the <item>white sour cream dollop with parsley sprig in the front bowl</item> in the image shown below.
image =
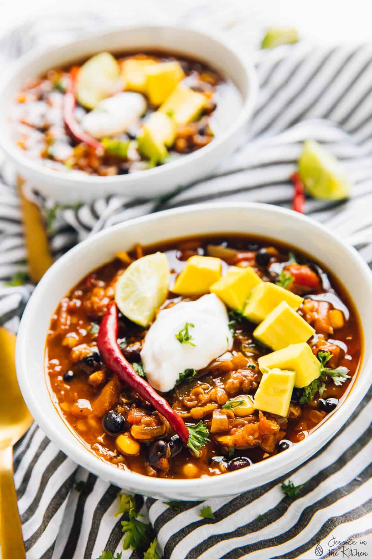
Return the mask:
[[[186,324],[194,345],[176,337]],[[151,386],[167,392],[185,369],[202,369],[232,346],[228,312],[211,293],[160,311],[144,338],[141,359]]]

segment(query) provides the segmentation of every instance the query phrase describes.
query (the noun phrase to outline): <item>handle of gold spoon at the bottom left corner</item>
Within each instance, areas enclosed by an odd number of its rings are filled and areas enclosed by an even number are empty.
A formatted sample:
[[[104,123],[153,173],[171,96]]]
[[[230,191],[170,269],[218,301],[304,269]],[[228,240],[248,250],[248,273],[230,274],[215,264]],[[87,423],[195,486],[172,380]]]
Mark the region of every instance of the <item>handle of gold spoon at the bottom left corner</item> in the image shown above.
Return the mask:
[[[0,544],[4,559],[26,559],[13,480],[12,447],[0,449]]]

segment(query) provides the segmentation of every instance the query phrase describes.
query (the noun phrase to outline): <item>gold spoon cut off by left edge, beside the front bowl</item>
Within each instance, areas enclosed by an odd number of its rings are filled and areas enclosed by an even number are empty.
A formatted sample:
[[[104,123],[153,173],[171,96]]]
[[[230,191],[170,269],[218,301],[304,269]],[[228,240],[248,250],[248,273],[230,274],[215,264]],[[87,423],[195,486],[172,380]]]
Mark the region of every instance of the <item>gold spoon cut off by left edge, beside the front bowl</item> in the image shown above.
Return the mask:
[[[0,544],[4,559],[25,559],[13,480],[13,445],[32,424],[15,367],[16,337],[0,326]]]

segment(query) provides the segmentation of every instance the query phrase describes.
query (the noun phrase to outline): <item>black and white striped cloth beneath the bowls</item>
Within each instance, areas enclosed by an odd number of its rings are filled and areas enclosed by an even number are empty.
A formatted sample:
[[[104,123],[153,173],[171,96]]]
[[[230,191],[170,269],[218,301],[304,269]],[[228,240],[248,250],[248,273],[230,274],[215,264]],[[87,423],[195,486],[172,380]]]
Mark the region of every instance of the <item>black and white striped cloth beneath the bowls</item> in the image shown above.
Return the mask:
[[[241,37],[241,44],[243,23],[226,31]],[[16,37],[18,49],[8,56],[20,50]],[[372,264],[372,46],[325,49],[302,41],[254,56],[258,106],[249,140],[233,157],[167,200],[115,196],[77,211],[61,210],[51,236],[55,254],[99,229],[168,207],[211,199],[288,207],[289,175],[303,141],[315,139],[342,160],[354,186],[347,202],[309,198],[306,214],[335,230]],[[26,266],[26,253],[12,173],[6,163],[2,168],[0,277],[6,280]],[[46,207],[52,204],[46,201]],[[17,329],[31,290],[0,287],[0,316],[9,328]],[[160,552],[165,559],[328,557],[329,549],[336,552],[342,542],[355,541],[362,547],[346,547],[372,555],[371,416],[369,393],[334,439],[291,472],[295,485],[306,482],[297,500],[283,498],[280,483],[286,477],[233,498],[210,499],[206,504],[215,520],[200,518],[197,502],[183,503],[173,513],[160,500],[138,496]],[[81,492],[76,481],[85,482]],[[27,559],[95,559],[103,549],[122,551],[123,518],[114,516],[119,488],[76,466],[36,425],[16,447],[15,482]],[[129,556],[137,557],[123,552],[123,559]]]

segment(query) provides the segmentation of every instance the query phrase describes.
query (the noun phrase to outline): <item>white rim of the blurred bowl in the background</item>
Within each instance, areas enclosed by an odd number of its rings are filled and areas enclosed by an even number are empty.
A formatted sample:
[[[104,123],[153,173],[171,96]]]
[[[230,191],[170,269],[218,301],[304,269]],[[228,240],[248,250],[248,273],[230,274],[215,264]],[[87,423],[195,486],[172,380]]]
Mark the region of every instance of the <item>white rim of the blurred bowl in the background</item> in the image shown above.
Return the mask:
[[[116,176],[109,176],[109,177],[91,176],[86,173],[74,173],[74,174],[70,174],[68,172],[58,173],[55,170],[44,167],[44,165],[39,163],[37,160],[34,161],[31,158],[28,158],[25,154],[23,154],[23,151],[20,148],[17,148],[17,146],[12,142],[12,139],[7,135],[7,133],[2,131],[0,131],[1,149],[3,149],[5,153],[8,155],[8,157],[11,158],[13,162],[18,164],[22,170],[27,169],[29,172],[32,172],[33,174],[41,174],[44,177],[44,179],[50,179],[51,181],[54,182],[69,182],[70,179],[73,179],[74,182],[81,183],[81,184],[86,183],[87,185],[90,184],[91,186],[96,186],[96,187],[98,186],[104,187],[105,185],[110,186],[113,184],[122,184],[124,189],[125,184],[131,183],[131,185],[134,185],[138,182],[143,181],[144,173],[146,173],[146,180],[151,181],[152,178],[158,177],[161,173],[164,173],[166,170],[172,172],[173,170],[177,170],[177,169],[181,170],[183,165],[185,164],[190,164],[190,165],[197,164],[200,161],[200,159],[207,157],[207,155],[212,153],[212,151],[218,149],[221,144],[227,143],[230,138],[233,138],[236,134],[239,133],[239,130],[243,127],[243,125],[246,122],[248,122],[250,116],[252,115],[258,96],[257,73],[255,71],[252,59],[250,59],[243,52],[241,48],[233,44],[233,41],[231,41],[228,37],[226,37],[225,35],[223,35],[221,32],[218,31],[212,31],[212,32],[209,30],[205,31],[204,29],[196,25],[185,25],[182,23],[180,23],[180,25],[174,23],[159,23],[157,25],[149,25],[149,24],[138,25],[136,23],[133,23],[132,25],[113,27],[110,28],[109,30],[106,29],[100,33],[92,33],[89,34],[88,36],[84,36],[82,39],[76,39],[73,41],[64,42],[64,44],[62,44],[61,47],[55,46],[53,48],[47,48],[44,45],[37,47],[35,49],[32,49],[30,53],[21,56],[14,64],[11,65],[11,67],[8,69],[8,72],[5,73],[0,83],[0,101],[2,100],[4,94],[6,94],[9,84],[11,84],[12,80],[16,78],[17,75],[21,74],[22,70],[26,68],[31,61],[34,61],[35,59],[38,58],[45,58],[45,55],[50,53],[51,51],[57,52],[59,50],[63,50],[64,48],[69,48],[73,45],[76,45],[77,49],[79,48],[83,49],[84,46],[87,45],[93,37],[95,39],[100,38],[102,40],[105,40],[107,37],[111,35],[125,32],[128,30],[139,31],[139,30],[150,30],[150,29],[170,29],[170,30],[176,30],[176,31],[181,31],[186,33],[194,32],[196,34],[199,34],[200,36],[204,36],[204,38],[206,37],[209,40],[219,42],[220,45],[224,46],[224,48],[226,48],[229,51],[231,57],[233,58],[235,57],[235,59],[238,60],[239,64],[241,65],[241,68],[244,69],[244,73],[245,73],[244,79],[245,79],[245,83],[248,86],[248,93],[244,97],[240,88],[235,84],[235,87],[240,91],[243,97],[243,104],[241,106],[239,115],[236,116],[235,121],[228,127],[228,129],[223,131],[218,137],[214,138],[214,140],[211,141],[206,146],[196,151],[193,151],[192,153],[186,154],[185,157],[176,159],[175,161],[166,163],[164,165],[160,165],[160,167],[146,169],[143,172],[141,171],[138,173],[131,173],[127,175],[116,175]],[[187,49],[185,48],[185,51],[186,50]],[[76,55],[74,55],[74,57],[71,57],[71,59],[72,58],[78,59],[79,54],[76,53]],[[207,62],[207,59],[205,60]],[[125,191],[123,191],[123,195],[125,195]]]

